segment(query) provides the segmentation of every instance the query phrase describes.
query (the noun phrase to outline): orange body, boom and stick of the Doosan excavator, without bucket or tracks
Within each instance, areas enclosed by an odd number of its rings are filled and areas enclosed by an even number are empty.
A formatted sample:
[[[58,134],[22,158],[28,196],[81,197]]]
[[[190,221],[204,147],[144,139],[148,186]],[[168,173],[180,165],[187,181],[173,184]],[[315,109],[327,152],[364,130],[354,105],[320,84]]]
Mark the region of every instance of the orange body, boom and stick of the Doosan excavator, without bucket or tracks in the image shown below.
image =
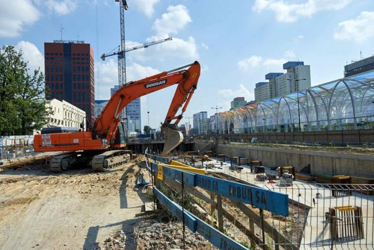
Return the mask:
[[[185,70],[181,70],[187,68]],[[184,67],[164,71],[153,76],[127,83],[112,95],[102,113],[96,119],[94,126],[86,132],[68,132],[37,134],[34,136],[34,151],[80,151],[80,150],[104,150],[123,148],[126,144],[116,142],[120,113],[127,104],[136,98],[177,85],[174,97],[171,101],[163,126],[178,125],[186,111],[200,76],[200,64],[194,62]],[[184,105],[182,107],[182,105]],[[176,115],[179,108],[182,112]]]

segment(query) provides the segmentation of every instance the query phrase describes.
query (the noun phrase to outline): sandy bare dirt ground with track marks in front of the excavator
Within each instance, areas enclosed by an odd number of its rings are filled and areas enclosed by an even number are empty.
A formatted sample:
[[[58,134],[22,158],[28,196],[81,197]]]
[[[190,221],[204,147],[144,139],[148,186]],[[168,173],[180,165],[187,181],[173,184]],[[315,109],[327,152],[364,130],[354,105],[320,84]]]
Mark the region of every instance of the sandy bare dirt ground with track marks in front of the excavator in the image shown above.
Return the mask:
[[[102,173],[0,172],[0,250],[90,250],[113,232],[133,231],[149,201],[133,188],[138,171],[128,163]]]

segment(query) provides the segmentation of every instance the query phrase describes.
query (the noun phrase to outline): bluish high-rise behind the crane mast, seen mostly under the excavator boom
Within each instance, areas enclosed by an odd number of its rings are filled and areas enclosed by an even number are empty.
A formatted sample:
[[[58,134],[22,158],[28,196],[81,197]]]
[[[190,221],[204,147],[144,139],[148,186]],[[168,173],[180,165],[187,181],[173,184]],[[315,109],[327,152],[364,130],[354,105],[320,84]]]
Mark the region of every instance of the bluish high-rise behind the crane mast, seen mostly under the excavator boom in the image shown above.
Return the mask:
[[[114,88],[110,89],[111,95],[113,95],[119,89],[119,85],[115,85]],[[136,98],[134,101],[129,103],[125,107],[125,116],[127,117],[129,132],[141,133],[141,107],[140,98]]]

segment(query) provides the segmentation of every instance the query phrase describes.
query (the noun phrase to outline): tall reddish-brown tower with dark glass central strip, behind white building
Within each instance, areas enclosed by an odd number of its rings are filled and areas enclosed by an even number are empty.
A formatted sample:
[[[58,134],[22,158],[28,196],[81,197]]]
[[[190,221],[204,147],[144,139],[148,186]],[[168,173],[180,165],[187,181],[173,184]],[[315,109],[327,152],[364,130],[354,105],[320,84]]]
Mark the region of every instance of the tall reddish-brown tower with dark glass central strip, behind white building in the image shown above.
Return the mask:
[[[65,100],[79,107],[93,125],[94,54],[90,44],[70,40],[46,42],[44,64],[47,99]]]

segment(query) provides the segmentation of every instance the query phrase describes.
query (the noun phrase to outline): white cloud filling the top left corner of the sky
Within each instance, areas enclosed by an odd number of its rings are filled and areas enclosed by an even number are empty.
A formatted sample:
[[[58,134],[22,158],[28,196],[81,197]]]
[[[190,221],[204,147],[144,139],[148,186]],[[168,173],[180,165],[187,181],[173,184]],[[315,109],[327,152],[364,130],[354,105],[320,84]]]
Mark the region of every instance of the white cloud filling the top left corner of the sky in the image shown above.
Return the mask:
[[[0,0],[0,37],[19,36],[24,26],[39,18],[40,12],[30,0]]]

